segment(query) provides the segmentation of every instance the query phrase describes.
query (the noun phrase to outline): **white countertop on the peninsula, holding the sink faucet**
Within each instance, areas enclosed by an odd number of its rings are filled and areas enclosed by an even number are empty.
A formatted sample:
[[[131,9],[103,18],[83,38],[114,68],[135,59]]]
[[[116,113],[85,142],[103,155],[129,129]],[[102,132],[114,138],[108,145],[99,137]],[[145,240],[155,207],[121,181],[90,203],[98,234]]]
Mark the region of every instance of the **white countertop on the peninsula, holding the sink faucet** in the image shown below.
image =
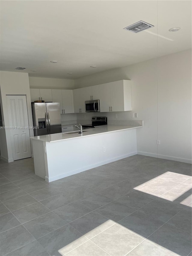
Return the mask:
[[[91,135],[106,133],[106,132],[134,129],[139,127],[143,127],[143,125],[139,125],[139,126],[138,125],[137,126],[135,125],[101,125],[101,126],[95,126],[95,128],[83,130],[82,134],[77,133],[77,131],[73,131],[73,132],[69,131],[70,134],[67,134],[67,133],[47,134],[47,135],[30,137],[30,139],[41,140],[46,142],[54,142],[59,140],[67,140],[67,139],[80,138],[84,136],[91,136]]]

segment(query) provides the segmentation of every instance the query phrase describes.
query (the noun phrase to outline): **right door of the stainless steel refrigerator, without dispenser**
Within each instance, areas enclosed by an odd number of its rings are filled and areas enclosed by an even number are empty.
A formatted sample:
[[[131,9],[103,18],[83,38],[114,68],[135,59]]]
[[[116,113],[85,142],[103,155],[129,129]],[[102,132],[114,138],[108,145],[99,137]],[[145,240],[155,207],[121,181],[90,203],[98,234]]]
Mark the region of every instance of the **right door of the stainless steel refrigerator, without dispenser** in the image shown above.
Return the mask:
[[[49,134],[61,132],[60,104],[46,103],[46,110],[50,122]]]

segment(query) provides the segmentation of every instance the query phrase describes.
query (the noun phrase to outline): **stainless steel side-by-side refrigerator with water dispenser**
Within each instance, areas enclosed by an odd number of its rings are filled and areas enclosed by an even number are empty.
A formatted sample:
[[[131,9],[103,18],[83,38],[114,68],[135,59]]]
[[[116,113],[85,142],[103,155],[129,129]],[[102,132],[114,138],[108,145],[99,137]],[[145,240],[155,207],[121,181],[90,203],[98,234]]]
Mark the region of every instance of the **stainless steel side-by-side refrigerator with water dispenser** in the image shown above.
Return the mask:
[[[61,132],[60,104],[32,102],[34,136]]]

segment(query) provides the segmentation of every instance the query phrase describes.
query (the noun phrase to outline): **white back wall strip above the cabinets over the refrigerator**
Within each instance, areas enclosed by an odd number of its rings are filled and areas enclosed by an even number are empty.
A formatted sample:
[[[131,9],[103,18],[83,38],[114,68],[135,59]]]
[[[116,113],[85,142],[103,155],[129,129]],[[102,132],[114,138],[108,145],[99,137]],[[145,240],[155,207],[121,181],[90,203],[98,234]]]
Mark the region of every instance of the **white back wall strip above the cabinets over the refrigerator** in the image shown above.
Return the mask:
[[[45,77],[29,77],[29,87],[37,89],[74,89],[74,80]]]

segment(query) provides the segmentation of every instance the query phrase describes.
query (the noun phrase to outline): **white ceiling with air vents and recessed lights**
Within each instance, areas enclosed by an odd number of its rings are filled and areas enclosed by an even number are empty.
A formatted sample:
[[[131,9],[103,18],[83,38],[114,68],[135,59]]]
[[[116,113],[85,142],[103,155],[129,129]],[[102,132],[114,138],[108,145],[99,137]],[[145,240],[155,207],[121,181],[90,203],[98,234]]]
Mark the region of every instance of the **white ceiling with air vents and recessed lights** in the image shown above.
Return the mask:
[[[76,79],[191,48],[191,1],[1,0],[0,5],[3,71],[24,67],[17,72]],[[140,20],[154,27],[136,34],[123,29]],[[169,32],[172,27],[181,29]]]

